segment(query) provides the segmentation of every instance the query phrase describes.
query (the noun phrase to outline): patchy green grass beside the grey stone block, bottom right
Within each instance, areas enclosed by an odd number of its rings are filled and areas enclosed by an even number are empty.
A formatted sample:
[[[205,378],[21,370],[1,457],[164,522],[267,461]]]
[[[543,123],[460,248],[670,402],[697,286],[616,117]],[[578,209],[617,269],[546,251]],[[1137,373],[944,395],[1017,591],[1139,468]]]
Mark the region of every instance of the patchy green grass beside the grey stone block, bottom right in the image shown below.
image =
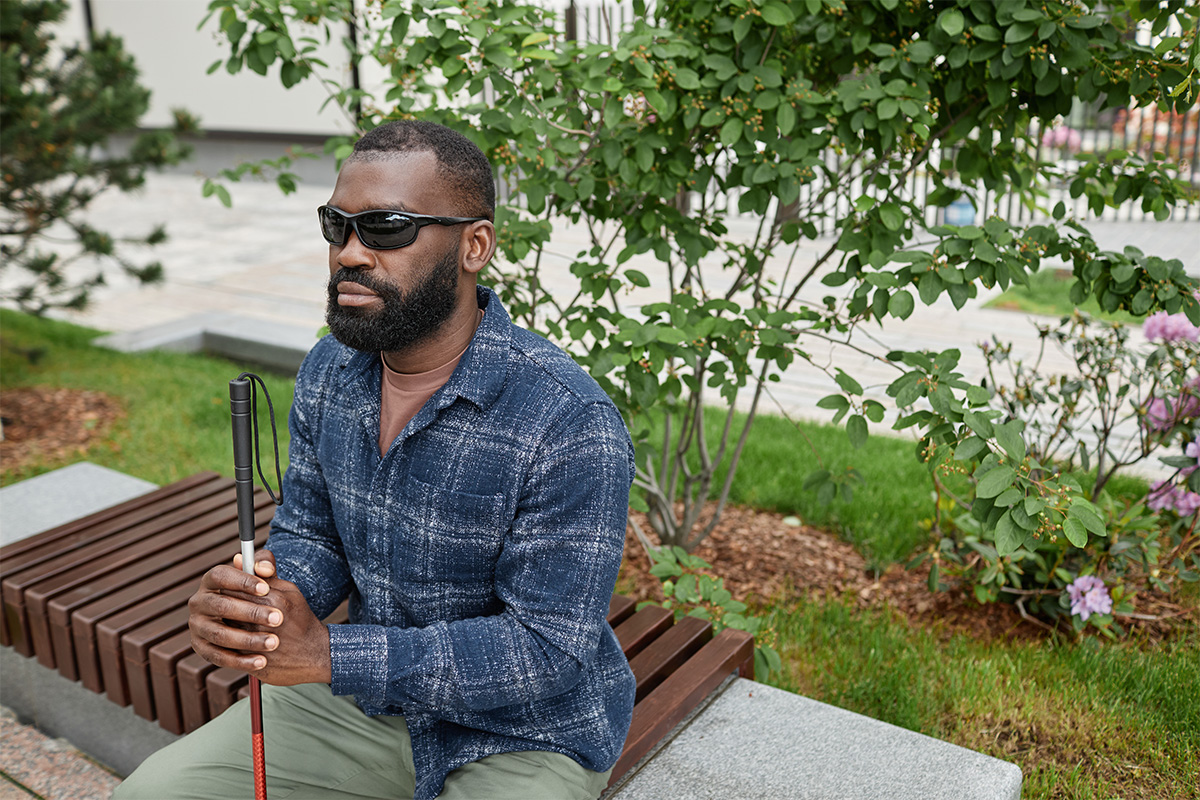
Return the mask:
[[[772,682],[1021,766],[1022,796],[1195,798],[1200,633],[1153,651],[979,642],[838,600],[769,616]]]

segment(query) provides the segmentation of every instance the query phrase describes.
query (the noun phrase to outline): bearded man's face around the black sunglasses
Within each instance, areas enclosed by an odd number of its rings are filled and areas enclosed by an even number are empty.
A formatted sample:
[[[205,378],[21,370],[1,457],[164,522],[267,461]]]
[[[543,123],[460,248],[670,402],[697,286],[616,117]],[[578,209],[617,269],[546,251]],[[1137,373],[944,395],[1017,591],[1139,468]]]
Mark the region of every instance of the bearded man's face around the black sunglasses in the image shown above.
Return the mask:
[[[385,161],[350,161],[329,200],[347,213],[371,209],[452,216],[438,191],[431,152]],[[412,245],[370,249],[353,231],[329,246],[325,319],[338,342],[370,353],[401,353],[428,339],[450,318],[458,296],[458,229],[428,225]]]

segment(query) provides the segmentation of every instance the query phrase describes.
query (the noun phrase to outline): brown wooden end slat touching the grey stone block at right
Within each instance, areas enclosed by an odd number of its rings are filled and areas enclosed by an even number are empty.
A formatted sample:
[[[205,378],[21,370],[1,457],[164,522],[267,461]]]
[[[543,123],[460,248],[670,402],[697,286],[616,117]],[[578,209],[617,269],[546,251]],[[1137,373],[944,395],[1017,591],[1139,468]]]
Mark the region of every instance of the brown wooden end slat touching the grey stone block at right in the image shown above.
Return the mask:
[[[754,678],[754,637],[727,627],[634,706],[634,721],[610,786],[734,672]]]

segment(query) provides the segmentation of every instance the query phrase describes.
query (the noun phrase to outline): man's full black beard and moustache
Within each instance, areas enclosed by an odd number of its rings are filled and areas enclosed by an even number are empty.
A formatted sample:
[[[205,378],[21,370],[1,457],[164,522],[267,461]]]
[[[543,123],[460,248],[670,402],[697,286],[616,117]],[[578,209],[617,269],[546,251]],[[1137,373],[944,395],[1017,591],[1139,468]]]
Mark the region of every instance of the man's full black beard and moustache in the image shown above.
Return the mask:
[[[358,283],[374,291],[383,308],[337,302],[337,284]],[[448,252],[408,291],[374,276],[374,271],[342,267],[329,279],[325,321],[342,344],[366,353],[398,353],[430,338],[454,313],[458,289],[458,248]]]

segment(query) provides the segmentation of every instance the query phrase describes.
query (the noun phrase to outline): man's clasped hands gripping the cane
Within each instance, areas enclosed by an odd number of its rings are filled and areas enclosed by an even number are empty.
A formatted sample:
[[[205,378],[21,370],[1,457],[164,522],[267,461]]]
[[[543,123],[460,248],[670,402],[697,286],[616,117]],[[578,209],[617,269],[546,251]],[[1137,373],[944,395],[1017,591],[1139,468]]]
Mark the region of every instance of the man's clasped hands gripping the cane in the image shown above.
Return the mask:
[[[241,669],[265,684],[328,684],[329,628],[295,584],[275,577],[275,557],[254,555],[254,575],[233,565],[209,570],[188,601],[192,648],[218,667]]]

